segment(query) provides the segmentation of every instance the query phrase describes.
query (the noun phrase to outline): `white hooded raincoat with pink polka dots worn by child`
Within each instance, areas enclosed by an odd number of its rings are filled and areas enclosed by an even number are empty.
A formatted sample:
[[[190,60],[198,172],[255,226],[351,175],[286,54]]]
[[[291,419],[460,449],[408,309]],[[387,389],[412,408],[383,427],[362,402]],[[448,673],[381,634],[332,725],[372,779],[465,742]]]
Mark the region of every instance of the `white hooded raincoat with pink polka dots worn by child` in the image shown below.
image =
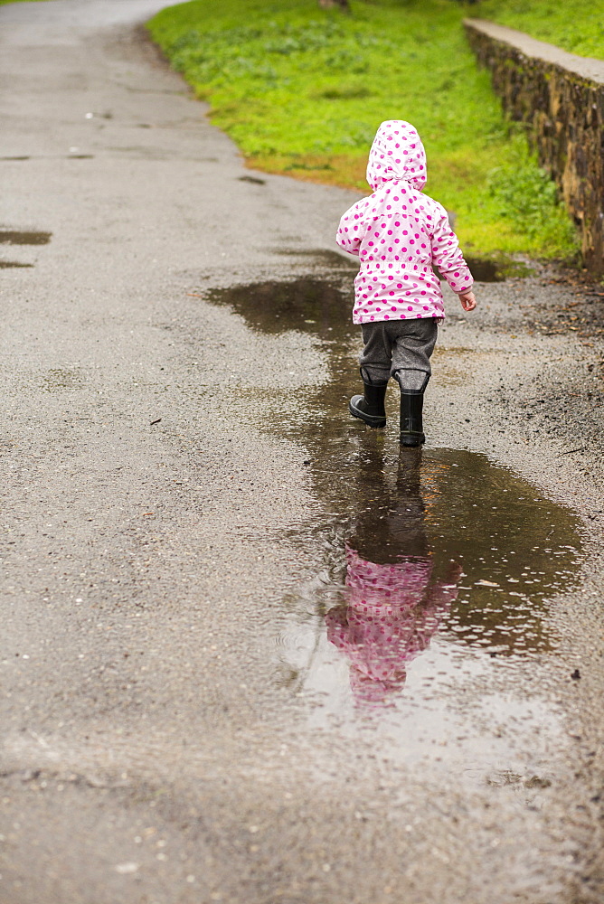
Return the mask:
[[[369,152],[367,182],[373,194],[344,213],[336,236],[361,263],[354,279],[354,323],[443,318],[432,265],[454,292],[468,291],[474,280],[447,212],[421,191],[426,152],[410,123],[382,122]]]

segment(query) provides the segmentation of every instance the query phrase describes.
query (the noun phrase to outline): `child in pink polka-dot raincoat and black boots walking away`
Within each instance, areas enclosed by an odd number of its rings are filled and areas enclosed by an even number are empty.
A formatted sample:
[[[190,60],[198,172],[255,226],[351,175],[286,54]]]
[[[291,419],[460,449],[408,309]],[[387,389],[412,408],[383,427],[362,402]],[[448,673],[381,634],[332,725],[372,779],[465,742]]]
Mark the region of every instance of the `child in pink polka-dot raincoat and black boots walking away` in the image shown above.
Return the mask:
[[[410,123],[382,122],[369,152],[367,182],[373,194],[344,213],[336,236],[361,262],[353,322],[363,329],[364,393],[353,396],[349,409],[370,427],[385,427],[386,386],[394,377],[401,386],[401,445],[420,446],[426,441],[421,412],[429,358],[445,316],[432,265],[465,311],[476,307],[474,280],[444,207],[421,192],[426,153]]]

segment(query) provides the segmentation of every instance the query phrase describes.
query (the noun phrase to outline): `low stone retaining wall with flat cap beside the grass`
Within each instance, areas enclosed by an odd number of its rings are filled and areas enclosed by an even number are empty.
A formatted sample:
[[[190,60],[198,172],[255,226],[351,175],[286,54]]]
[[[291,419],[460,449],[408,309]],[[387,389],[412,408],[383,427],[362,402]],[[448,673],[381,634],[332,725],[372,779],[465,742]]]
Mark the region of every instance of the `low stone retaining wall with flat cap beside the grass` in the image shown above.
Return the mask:
[[[541,165],[581,231],[583,263],[604,275],[604,61],[567,53],[527,34],[464,21],[478,61],[492,74],[506,114],[528,125]]]

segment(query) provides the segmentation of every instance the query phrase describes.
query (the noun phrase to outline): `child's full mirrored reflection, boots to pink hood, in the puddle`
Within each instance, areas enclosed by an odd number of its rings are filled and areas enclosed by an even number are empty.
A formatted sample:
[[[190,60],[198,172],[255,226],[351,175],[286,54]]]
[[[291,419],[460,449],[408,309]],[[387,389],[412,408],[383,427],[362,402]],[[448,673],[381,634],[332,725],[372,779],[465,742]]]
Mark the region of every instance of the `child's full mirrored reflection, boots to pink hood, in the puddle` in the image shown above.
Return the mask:
[[[458,592],[457,562],[448,562],[444,579],[433,576],[421,450],[401,455],[395,485],[388,487],[378,471],[373,498],[350,523],[343,599],[326,613],[327,638],[350,660],[358,702],[382,702],[401,691],[408,664],[427,648]]]

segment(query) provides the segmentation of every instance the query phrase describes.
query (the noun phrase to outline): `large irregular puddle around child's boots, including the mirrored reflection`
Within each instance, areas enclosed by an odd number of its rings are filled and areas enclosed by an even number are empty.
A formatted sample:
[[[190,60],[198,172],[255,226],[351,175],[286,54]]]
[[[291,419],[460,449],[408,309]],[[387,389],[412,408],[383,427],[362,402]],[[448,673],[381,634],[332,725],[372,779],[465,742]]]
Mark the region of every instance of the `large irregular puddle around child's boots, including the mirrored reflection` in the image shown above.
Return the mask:
[[[466,761],[486,749],[492,760],[503,743],[495,724],[508,718],[520,733],[534,720],[558,733],[543,699],[505,685],[555,654],[548,605],[577,583],[579,521],[486,456],[401,450],[392,427],[350,418],[359,339],[341,276],[205,293],[264,334],[311,335],[329,371],[323,386],[284,391],[268,427],[307,448],[326,512],[288,536],[302,560],[320,550],[323,568],[283,599],[275,681],[311,701],[315,729],[335,721],[353,737],[370,718],[393,757],[452,739],[459,753],[468,738]],[[478,710],[482,740],[467,724]]]

